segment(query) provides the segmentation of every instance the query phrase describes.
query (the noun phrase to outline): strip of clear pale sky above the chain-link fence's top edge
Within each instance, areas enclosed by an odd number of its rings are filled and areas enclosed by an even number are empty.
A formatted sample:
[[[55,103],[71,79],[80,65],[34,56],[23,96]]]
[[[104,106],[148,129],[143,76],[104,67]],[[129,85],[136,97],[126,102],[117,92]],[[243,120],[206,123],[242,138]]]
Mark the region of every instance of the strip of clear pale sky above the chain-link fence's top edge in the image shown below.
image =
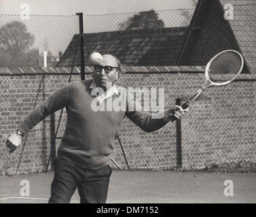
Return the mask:
[[[119,14],[149,9],[194,8],[192,0],[0,0],[0,14],[20,14],[28,4],[31,15]]]

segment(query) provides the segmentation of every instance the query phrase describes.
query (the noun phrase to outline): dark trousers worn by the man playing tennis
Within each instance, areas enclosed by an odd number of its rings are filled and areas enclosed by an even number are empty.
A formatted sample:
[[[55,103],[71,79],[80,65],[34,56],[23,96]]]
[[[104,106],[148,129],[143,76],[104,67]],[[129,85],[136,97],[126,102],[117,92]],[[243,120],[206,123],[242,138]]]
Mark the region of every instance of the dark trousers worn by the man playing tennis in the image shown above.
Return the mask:
[[[106,203],[111,173],[109,165],[88,170],[65,159],[56,159],[49,203],[70,203],[75,189],[80,203]]]

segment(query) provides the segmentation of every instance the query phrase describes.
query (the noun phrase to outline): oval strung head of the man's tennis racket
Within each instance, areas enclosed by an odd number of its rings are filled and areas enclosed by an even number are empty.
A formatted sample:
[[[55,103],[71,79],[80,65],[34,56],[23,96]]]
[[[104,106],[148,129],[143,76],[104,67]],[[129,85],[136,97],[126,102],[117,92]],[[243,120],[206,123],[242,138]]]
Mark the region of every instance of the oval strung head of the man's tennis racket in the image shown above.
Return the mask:
[[[241,56],[232,51],[223,52],[215,57],[208,70],[209,79],[215,83],[231,81],[240,73]]]

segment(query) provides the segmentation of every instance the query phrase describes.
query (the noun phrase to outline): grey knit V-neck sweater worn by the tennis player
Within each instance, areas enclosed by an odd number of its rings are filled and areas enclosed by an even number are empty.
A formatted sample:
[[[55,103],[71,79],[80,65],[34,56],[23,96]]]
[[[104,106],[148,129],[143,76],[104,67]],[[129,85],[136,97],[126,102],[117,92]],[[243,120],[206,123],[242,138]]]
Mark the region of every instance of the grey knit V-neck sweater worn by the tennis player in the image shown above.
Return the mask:
[[[140,104],[136,103],[126,88],[120,86],[117,86],[119,96],[114,95],[111,100],[119,100],[126,106],[125,109],[93,111],[91,105],[96,97],[91,93],[92,81],[89,79],[67,83],[29,113],[18,129],[26,134],[39,121],[66,107],[67,125],[57,157],[68,159],[87,169],[99,169],[109,163],[115,136],[125,116],[145,132],[160,129],[168,123],[168,119],[153,119],[151,113],[145,111],[128,111],[132,106],[139,108]],[[105,101],[100,106],[105,106]]]

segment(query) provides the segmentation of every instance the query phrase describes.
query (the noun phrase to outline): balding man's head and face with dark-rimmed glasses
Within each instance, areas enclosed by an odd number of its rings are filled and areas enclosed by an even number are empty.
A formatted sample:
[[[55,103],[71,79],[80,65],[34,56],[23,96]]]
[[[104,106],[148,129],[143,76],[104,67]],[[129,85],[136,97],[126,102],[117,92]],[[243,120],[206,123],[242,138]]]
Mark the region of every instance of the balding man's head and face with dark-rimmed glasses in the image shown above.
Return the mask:
[[[100,66],[111,66],[111,67],[118,67],[117,61],[115,57],[113,57],[110,54],[103,55],[103,62],[100,64]],[[100,69],[100,67],[98,66]],[[118,78],[119,69],[118,68],[111,68],[112,70],[105,71],[104,68],[101,68],[101,70],[95,70],[94,68],[94,81],[96,82],[96,85],[98,87],[102,87],[103,90],[107,90],[107,82],[111,82],[112,85],[115,83],[115,81]]]

